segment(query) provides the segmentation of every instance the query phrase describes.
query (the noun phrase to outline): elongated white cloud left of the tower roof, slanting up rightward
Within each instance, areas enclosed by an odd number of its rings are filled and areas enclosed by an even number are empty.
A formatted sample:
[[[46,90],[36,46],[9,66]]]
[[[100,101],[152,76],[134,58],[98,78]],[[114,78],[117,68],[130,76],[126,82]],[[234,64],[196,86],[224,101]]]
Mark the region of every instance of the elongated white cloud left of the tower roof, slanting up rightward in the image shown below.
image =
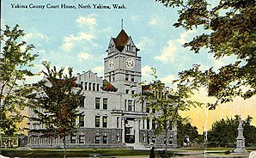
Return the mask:
[[[78,33],[77,35],[70,34],[70,36],[64,38],[64,44],[62,48],[64,51],[70,52],[71,49],[82,40],[91,41],[94,39],[94,35],[90,33]]]

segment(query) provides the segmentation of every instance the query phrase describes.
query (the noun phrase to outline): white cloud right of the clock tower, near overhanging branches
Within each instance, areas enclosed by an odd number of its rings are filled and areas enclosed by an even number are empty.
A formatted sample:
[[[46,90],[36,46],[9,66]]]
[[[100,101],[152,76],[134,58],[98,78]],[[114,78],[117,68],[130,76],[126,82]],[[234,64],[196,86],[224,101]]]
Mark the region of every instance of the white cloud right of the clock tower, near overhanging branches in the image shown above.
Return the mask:
[[[164,63],[167,63],[168,61],[174,61],[177,49],[178,48],[177,48],[177,46],[175,46],[174,41],[169,40],[168,41],[168,46],[166,46],[162,49],[161,55],[156,56],[155,60],[162,61]]]

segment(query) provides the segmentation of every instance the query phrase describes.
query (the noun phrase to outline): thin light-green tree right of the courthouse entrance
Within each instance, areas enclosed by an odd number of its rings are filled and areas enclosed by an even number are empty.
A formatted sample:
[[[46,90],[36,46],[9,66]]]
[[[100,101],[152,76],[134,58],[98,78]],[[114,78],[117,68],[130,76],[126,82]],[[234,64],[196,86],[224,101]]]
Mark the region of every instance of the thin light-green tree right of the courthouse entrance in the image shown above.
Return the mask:
[[[168,89],[160,80],[157,79],[156,70],[152,68],[155,80],[149,84],[143,83],[142,94],[139,100],[148,103],[149,109],[154,109],[155,112],[149,113],[148,118],[152,118],[156,123],[156,133],[164,134],[165,151],[167,151],[168,131],[172,130],[172,125],[179,118],[179,110],[188,110],[190,106],[201,106],[197,101],[190,100],[192,90],[189,84],[177,84],[177,89]]]

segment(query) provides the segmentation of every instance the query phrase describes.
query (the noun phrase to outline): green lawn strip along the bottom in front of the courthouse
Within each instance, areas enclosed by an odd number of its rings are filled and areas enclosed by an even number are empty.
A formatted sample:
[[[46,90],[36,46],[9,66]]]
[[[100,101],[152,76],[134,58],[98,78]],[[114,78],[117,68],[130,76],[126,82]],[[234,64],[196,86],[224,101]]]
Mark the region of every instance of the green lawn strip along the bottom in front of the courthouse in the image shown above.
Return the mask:
[[[212,151],[212,153],[223,155],[224,151],[229,150],[229,148],[208,148],[207,151]],[[256,147],[249,147],[247,150],[256,150]],[[189,151],[204,151],[204,149],[193,149],[193,148],[181,148],[174,149],[174,151],[169,151],[168,155],[178,155],[179,152],[189,152]],[[1,149],[1,155],[9,157],[21,157],[21,158],[63,158],[64,149]],[[161,155],[160,151],[155,151],[155,155]],[[89,157],[92,155],[100,155],[104,157],[115,157],[115,156],[149,156],[149,150],[133,150],[133,149],[67,149],[68,157]],[[183,154],[184,155],[184,154]],[[186,155],[186,154],[185,154]]]

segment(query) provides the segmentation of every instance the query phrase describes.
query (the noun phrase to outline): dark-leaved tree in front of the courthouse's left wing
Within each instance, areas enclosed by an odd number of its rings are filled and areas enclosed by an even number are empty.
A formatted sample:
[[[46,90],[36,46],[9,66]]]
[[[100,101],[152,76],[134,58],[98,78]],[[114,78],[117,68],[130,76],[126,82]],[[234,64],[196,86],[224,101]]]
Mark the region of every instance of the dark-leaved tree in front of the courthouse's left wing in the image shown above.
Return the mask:
[[[61,137],[64,140],[64,157],[66,157],[66,136],[76,132],[76,118],[78,106],[81,103],[82,87],[76,83],[76,77],[72,76],[72,69],[69,74],[64,75],[64,68],[57,70],[50,64],[42,63],[46,71],[42,70],[45,79],[35,83],[38,91],[28,98],[33,103],[31,106],[35,117],[31,120],[35,125],[43,125],[43,129],[35,129],[34,132],[45,134],[44,137]]]

